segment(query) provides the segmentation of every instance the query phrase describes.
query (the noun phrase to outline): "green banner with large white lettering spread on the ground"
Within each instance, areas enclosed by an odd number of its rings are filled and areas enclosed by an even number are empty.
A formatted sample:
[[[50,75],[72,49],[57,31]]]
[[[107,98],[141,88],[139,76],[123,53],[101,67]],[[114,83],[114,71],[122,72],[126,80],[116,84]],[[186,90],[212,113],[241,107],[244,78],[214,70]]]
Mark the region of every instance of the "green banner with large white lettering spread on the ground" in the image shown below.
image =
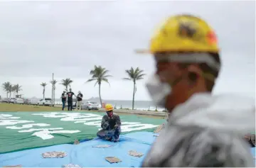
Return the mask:
[[[105,113],[0,112],[0,153],[96,137]],[[164,119],[120,115],[122,133],[153,131]]]

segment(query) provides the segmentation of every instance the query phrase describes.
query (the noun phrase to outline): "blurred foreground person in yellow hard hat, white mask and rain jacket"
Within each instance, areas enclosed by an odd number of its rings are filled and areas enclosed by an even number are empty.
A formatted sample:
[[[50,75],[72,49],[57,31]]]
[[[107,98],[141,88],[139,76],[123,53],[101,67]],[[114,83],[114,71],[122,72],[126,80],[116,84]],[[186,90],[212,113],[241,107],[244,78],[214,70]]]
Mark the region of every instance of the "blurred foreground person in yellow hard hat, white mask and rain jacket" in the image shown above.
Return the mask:
[[[255,130],[255,104],[212,95],[221,64],[208,23],[171,16],[151,38],[150,50],[142,52],[154,55],[156,64],[146,83],[151,99],[170,113],[142,167],[254,167],[242,137]]]

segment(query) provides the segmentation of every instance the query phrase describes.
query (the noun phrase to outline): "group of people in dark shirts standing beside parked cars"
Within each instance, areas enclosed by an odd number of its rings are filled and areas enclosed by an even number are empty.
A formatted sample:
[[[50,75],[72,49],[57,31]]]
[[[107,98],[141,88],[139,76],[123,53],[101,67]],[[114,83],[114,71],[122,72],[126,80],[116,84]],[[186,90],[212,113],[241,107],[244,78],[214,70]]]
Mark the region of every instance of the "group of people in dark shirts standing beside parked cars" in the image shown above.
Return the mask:
[[[72,89],[69,89],[69,91],[67,93],[65,91],[63,91],[63,94],[61,94],[61,100],[63,103],[63,108],[62,108],[63,111],[65,108],[65,103],[66,103],[67,99],[68,99],[68,111],[73,110],[73,96],[75,96],[77,98],[77,101],[76,101],[77,110],[81,110],[82,96],[83,96],[81,91],[78,91],[78,95],[76,96],[75,93],[72,91]]]

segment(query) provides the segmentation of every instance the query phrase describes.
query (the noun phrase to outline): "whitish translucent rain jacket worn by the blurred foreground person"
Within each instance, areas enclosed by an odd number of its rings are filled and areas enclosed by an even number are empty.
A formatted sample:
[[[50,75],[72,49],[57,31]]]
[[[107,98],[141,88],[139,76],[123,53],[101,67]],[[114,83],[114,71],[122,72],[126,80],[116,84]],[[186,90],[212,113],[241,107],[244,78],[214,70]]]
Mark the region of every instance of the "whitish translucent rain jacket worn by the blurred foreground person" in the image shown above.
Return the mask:
[[[244,139],[252,130],[254,101],[194,94],[171,112],[142,167],[255,167]]]

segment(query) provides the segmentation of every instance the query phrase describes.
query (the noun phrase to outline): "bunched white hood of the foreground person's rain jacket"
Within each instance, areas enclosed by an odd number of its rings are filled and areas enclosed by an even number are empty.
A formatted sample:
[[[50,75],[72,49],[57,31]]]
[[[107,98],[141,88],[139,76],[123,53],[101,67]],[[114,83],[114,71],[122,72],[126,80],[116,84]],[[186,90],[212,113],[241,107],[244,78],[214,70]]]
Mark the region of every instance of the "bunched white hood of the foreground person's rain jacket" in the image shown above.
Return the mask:
[[[255,101],[242,96],[195,94],[172,111],[169,122],[229,131],[243,137],[255,130]]]

